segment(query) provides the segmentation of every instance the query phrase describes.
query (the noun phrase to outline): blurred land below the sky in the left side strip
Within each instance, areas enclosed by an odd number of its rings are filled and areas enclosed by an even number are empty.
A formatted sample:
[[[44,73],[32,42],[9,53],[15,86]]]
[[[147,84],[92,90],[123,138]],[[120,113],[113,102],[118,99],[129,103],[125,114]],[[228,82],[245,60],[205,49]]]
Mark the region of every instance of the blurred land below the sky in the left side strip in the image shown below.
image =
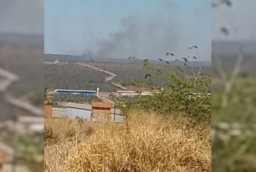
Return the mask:
[[[43,50],[42,35],[0,33],[0,152],[5,172],[43,170]]]

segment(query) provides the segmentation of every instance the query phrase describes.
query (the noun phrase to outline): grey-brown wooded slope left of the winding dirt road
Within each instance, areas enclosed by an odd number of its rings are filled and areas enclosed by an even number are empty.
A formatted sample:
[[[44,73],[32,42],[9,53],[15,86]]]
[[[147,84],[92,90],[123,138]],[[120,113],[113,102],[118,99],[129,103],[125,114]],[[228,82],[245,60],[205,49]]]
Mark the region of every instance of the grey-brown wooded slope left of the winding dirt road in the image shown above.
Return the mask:
[[[51,89],[87,89],[114,91],[109,75],[77,64],[45,65],[45,87]]]

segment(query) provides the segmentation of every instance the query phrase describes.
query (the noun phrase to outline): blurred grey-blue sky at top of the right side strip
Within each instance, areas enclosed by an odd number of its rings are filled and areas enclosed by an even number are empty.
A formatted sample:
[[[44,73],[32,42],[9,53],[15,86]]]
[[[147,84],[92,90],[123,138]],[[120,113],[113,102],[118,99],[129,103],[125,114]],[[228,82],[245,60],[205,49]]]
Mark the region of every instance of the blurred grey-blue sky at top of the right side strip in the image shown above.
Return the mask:
[[[216,1],[216,0],[213,0]],[[231,8],[223,5],[212,9],[212,40],[256,41],[255,0],[231,0]],[[230,36],[220,33],[225,26]]]

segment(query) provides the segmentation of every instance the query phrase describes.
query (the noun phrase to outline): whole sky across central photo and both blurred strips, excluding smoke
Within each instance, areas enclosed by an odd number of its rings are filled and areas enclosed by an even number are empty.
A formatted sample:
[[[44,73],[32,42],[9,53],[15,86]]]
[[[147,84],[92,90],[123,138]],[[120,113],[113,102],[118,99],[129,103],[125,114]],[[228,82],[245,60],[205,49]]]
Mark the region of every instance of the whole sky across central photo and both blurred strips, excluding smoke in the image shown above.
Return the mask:
[[[133,0],[109,0],[108,2],[103,0],[1,0],[0,34],[1,32],[43,34],[45,31],[46,53],[81,55],[88,49],[97,51],[99,41],[108,39],[111,33],[122,31],[120,22],[122,18],[138,14],[141,18],[150,18],[155,15],[162,15],[165,18],[169,16],[170,23],[176,21],[176,31],[179,31],[176,35],[179,35],[180,41],[173,41],[173,44],[178,44],[178,47],[171,46],[170,51],[173,52],[177,49],[186,50],[192,42],[192,44],[198,44],[199,54],[204,54],[201,53],[202,50],[207,52],[206,47],[210,47],[209,32],[212,34],[212,40],[256,41],[254,29],[256,18],[252,15],[255,13],[255,0],[232,0],[231,9],[222,6],[212,10],[208,0],[169,2],[168,4],[163,0],[140,0],[139,2]],[[231,30],[228,38],[219,31],[223,25]],[[159,27],[161,27],[160,24]],[[164,29],[159,29],[157,33],[161,31],[165,33]],[[139,32],[140,35],[141,32],[143,31]],[[144,45],[141,40],[136,43],[135,46]],[[158,40],[155,44],[160,43]],[[160,54],[162,51],[166,51],[166,47],[163,50],[158,49],[156,53]],[[120,52],[113,51],[112,53],[119,54]],[[184,55],[181,51],[178,53]]]

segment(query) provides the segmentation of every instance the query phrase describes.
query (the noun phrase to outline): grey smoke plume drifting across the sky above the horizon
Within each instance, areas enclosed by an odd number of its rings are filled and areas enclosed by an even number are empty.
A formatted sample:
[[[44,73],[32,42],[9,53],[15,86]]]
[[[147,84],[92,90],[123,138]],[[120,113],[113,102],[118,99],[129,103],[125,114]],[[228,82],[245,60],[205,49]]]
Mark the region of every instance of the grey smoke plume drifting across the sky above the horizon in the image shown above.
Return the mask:
[[[161,15],[148,17],[130,16],[120,20],[121,30],[109,34],[108,39],[97,42],[97,57],[144,59],[163,57],[175,51],[179,41],[179,29],[175,23]]]

